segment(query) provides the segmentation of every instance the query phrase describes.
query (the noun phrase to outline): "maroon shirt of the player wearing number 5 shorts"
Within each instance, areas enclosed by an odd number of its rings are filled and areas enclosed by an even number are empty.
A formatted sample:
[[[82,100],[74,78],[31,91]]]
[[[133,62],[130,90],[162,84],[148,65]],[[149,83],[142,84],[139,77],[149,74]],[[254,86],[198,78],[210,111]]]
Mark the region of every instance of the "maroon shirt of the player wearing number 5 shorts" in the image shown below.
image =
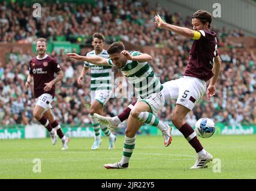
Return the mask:
[[[184,75],[208,81],[213,76],[213,58],[218,56],[217,35],[210,30],[199,30],[199,32],[201,38],[194,40],[192,44]]]

